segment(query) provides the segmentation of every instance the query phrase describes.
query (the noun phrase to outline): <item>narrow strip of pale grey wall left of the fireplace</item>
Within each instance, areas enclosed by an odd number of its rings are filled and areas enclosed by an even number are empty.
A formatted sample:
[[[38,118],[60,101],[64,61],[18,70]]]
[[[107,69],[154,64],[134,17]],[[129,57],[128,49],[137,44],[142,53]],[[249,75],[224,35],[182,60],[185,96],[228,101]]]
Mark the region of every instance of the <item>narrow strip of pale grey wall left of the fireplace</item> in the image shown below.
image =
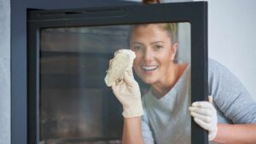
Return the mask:
[[[10,1],[0,0],[0,144],[10,144]]]

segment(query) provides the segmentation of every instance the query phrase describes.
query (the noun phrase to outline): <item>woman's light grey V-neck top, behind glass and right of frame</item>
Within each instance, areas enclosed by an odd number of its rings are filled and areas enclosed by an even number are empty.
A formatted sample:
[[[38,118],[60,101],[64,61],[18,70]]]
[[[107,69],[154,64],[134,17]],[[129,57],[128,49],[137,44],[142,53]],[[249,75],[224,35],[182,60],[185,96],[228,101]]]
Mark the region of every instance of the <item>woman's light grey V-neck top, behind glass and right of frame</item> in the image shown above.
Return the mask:
[[[190,144],[190,66],[162,98],[149,90],[143,95],[145,144]],[[208,95],[218,112],[218,123],[256,123],[256,103],[241,82],[215,60],[208,62]],[[213,142],[209,142],[213,143]]]

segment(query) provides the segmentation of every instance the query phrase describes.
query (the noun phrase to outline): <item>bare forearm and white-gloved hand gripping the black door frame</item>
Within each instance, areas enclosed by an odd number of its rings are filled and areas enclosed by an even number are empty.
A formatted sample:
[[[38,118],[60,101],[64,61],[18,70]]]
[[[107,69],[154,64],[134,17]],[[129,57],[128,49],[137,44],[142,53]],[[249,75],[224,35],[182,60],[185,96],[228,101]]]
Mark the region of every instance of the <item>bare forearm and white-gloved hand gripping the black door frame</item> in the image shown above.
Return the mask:
[[[217,124],[217,113],[210,102],[195,102],[189,111],[195,123],[209,131],[210,141],[220,144],[256,143],[256,124]]]

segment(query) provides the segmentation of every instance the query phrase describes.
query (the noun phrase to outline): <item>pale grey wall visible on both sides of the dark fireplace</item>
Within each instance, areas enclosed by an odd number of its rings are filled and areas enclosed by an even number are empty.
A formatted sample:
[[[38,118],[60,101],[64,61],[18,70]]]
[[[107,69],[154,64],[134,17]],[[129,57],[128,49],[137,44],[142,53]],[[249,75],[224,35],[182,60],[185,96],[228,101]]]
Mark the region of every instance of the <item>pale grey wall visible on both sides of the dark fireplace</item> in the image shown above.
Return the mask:
[[[209,57],[228,67],[256,100],[255,5],[254,0],[208,0],[208,37]],[[0,21],[0,144],[10,144],[9,0],[0,0]]]

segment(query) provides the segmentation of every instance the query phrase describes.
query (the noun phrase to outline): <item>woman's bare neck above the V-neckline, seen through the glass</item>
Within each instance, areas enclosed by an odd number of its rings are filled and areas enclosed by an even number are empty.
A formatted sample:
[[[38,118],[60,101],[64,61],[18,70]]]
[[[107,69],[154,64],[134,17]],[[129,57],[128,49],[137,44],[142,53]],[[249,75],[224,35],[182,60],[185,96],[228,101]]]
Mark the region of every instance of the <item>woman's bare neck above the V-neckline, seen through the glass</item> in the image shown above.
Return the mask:
[[[158,99],[166,95],[177,83],[178,79],[181,78],[187,66],[188,63],[180,65],[173,64],[170,74],[166,78],[163,78],[163,81],[151,85],[153,95]]]

